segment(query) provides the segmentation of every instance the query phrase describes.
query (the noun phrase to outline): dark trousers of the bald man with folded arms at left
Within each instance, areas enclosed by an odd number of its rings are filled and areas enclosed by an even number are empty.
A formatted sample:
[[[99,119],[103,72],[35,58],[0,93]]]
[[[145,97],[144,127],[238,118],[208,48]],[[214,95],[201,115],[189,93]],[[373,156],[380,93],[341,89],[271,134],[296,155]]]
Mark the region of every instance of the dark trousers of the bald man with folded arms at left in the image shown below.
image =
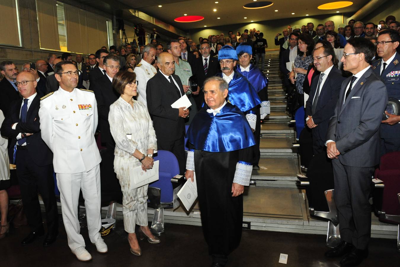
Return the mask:
[[[40,167],[30,157],[28,150],[16,152],[17,177],[20,185],[24,212],[32,231],[43,227],[38,191],[46,208],[46,221],[49,235],[58,234],[58,210],[54,194],[53,165]]]

